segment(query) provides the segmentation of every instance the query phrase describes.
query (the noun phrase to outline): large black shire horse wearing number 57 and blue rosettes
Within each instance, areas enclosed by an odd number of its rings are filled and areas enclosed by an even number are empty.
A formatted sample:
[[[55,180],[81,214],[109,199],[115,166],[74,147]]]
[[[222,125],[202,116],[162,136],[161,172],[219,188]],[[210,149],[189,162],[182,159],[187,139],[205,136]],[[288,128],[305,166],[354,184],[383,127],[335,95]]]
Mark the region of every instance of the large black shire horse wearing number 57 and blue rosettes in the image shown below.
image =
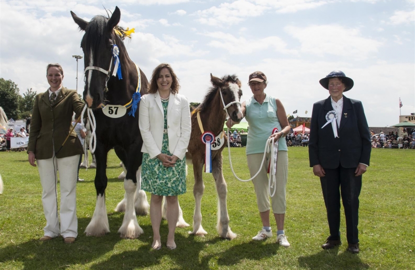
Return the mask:
[[[138,170],[142,161],[138,92],[141,95],[147,93],[148,80],[128,57],[119,36],[122,29],[117,26],[121,15],[118,7],[115,7],[111,17],[94,16],[89,22],[72,11],[70,13],[80,30],[85,31],[80,43],[85,64],[83,98],[88,107],[93,109],[96,119],[96,205],[85,233],[100,236],[109,232],[105,207],[108,181],[106,160],[108,151],[113,147],[126,170],[123,199],[125,214],[118,233],[123,238],[137,238],[143,231],[135,212],[146,214],[149,206],[145,192],[140,190]],[[120,70],[116,68],[117,62]]]

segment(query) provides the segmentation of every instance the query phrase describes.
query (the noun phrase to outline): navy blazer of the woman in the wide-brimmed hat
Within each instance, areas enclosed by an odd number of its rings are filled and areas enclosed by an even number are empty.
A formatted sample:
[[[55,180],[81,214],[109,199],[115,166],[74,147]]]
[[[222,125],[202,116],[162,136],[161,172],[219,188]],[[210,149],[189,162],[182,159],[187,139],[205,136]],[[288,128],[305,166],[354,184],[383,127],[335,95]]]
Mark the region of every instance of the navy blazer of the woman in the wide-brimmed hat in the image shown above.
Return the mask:
[[[313,104],[308,141],[310,167],[320,164],[323,168],[333,169],[340,164],[344,168],[355,168],[358,163],[369,165],[370,131],[361,102],[343,95],[337,138],[334,138],[331,124],[321,128],[327,122],[325,115],[330,110],[333,110],[330,96]]]

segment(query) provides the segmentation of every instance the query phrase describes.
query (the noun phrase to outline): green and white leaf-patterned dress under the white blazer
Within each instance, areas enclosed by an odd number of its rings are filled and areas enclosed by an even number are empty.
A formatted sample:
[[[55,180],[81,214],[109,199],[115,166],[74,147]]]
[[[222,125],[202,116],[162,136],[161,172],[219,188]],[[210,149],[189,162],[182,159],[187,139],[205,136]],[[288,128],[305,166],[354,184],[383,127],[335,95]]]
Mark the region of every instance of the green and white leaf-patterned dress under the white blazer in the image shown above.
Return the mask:
[[[164,110],[164,129],[167,128],[167,102],[161,102]],[[161,152],[172,155],[168,151],[168,135],[163,134]],[[174,167],[165,167],[148,153],[142,154],[141,189],[160,196],[175,196],[186,192],[186,157],[177,158]]]

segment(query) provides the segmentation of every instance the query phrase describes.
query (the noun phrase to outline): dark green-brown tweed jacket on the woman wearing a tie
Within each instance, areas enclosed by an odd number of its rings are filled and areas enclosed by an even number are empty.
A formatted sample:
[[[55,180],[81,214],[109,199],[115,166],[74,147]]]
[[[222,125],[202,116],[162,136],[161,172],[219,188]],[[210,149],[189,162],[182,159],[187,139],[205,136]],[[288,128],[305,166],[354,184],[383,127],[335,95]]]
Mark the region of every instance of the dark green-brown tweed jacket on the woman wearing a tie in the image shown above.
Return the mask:
[[[75,90],[62,87],[53,106],[50,105],[48,91],[37,94],[31,115],[27,152],[32,151],[36,159],[52,158],[53,150],[56,152],[60,149],[72,128],[73,112],[79,115],[82,108],[83,102]],[[76,133],[72,131],[56,157],[82,153],[82,145]]]

